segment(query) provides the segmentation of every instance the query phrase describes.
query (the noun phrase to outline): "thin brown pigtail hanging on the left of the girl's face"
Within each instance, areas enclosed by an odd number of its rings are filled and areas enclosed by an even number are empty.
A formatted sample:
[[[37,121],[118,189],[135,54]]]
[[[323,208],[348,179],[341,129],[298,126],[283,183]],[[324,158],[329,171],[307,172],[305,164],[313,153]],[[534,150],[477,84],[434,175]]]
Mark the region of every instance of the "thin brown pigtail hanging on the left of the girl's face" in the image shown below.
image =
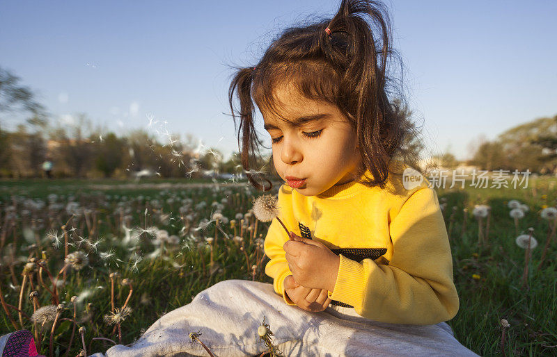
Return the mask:
[[[256,172],[252,167],[255,165],[256,158],[260,156],[259,145],[261,144],[253,123],[255,106],[251,99],[251,83],[253,81],[254,71],[255,68],[238,69],[228,89],[228,103],[230,104],[230,112],[234,120],[234,128],[238,133],[238,147],[242,148],[240,150],[240,156],[246,177],[258,190],[269,191],[273,186],[271,181],[262,177],[260,174],[256,174],[259,176],[258,182],[256,177],[252,174],[252,172]],[[235,97],[240,101],[239,112],[234,109],[233,102]],[[239,124],[237,123],[237,119],[240,119]],[[267,181],[268,185],[264,185],[263,180]]]

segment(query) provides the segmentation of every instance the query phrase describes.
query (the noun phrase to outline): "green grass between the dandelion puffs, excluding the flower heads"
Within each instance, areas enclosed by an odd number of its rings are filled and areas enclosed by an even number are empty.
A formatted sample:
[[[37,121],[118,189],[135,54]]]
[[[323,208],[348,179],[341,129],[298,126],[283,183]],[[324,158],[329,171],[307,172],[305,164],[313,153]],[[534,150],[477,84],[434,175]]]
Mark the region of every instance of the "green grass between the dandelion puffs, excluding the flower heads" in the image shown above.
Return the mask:
[[[72,315],[70,297],[79,296],[84,292],[90,293],[77,306],[77,322],[79,326],[86,326],[86,342],[91,343],[91,350],[88,352],[104,351],[111,345],[108,342],[93,341],[92,338],[102,336],[113,340],[118,339],[116,335],[111,334],[113,327],[107,326],[103,321],[103,316],[111,310],[110,272],[120,272],[121,279],[129,278],[134,281],[134,291],[130,299],[133,313],[121,326],[125,344],[138,338],[142,331],[158,317],[189,303],[198,292],[210,285],[226,279],[252,279],[249,267],[258,256],[261,256],[261,250],[252,239],[253,234],[249,234],[251,238],[248,238],[248,233],[244,233],[245,250],[250,260],[246,263],[240,245],[226,240],[223,234],[217,231],[217,244],[213,252],[215,265],[211,269],[210,247],[203,242],[205,237],[215,236],[216,227],[210,224],[207,229],[198,231],[191,228],[198,226],[201,219],[210,217],[215,210],[212,202],[220,203],[223,197],[228,196],[228,202],[223,204],[222,213],[225,217],[233,219],[236,213],[246,213],[251,208],[251,197],[259,193],[255,190],[246,190],[245,185],[225,185],[216,190],[213,185],[209,185],[210,181],[203,180],[196,183],[207,183],[206,187],[184,185],[190,182],[150,179],[141,181],[140,185],[134,187],[127,185],[134,181],[116,180],[0,181],[0,201],[3,202],[0,215],[3,229],[0,234],[6,229],[3,223],[6,217],[6,206],[13,204],[14,196],[46,200],[49,194],[55,193],[58,195],[57,201],[63,203],[64,207],[69,197],[72,197],[74,201],[79,202],[80,206],[94,208],[97,211],[99,222],[97,222],[97,231],[93,235],[88,234],[87,224],[82,215],[74,218],[69,224],[77,228],[71,237],[76,247],[71,247],[70,251],[77,249],[77,244],[83,239],[95,242],[98,238],[102,238],[103,241],[98,244],[97,252],[93,251],[86,242],[81,242],[79,249],[89,253],[89,264],[80,272],[68,271],[68,281],[61,288],[61,301],[65,301],[65,310],[61,316],[65,318]],[[162,190],[160,183],[165,184]],[[554,356],[556,354],[557,348],[554,346],[557,345],[555,315],[557,244],[555,240],[551,244],[542,269],[537,269],[549,228],[548,222],[541,219],[539,213],[542,207],[556,204],[557,192],[554,190],[554,185],[556,185],[554,178],[531,178],[526,189],[438,190],[441,202],[446,201],[444,217],[450,229],[455,285],[460,296],[460,310],[448,323],[453,327],[457,339],[477,354],[483,356],[501,354],[501,319],[507,319],[510,323],[510,329],[506,331],[505,345],[508,356]],[[143,199],[138,201],[137,198],[140,196]],[[119,209],[130,210],[134,227],[157,226],[159,229],[166,229],[171,235],[179,235],[180,229],[184,226],[178,213],[182,206],[180,203],[182,199],[193,201],[191,210],[185,215],[196,214],[196,217],[190,229],[185,230],[187,234],[180,236],[181,243],[178,246],[171,247],[167,244],[163,254],[150,259],[148,255],[157,247],[152,245],[146,233],[141,235],[133,245],[124,247],[120,243],[125,233],[118,229],[117,222],[126,213],[120,214]],[[528,227],[533,227],[533,235],[539,243],[533,250],[530,260],[528,288],[523,288],[521,284],[525,254],[524,249],[515,244],[515,223],[509,217],[510,210],[507,206],[510,199],[518,199],[528,205],[529,212],[519,221],[519,233],[524,233]],[[123,201],[125,204],[118,206],[118,203]],[[194,206],[201,201],[205,201],[207,205],[195,208]],[[27,258],[28,251],[22,248],[27,247],[34,240],[32,235],[27,234],[30,241],[26,242],[25,235],[22,234],[23,227],[31,226],[32,220],[43,219],[44,227],[38,230],[41,247],[31,249],[29,253],[39,256],[44,250],[49,268],[57,272],[63,266],[63,249],[52,247],[52,240],[49,240],[46,232],[56,229],[60,234],[62,224],[68,220],[68,214],[65,212],[49,214],[46,208],[40,208],[37,211],[29,210],[29,213],[24,215],[24,200],[17,198],[15,202],[18,215],[15,219],[15,234],[12,231],[6,237],[6,245],[1,255],[10,256],[8,244],[15,239],[18,247],[15,256]],[[478,221],[471,215],[475,204],[491,206],[489,236],[487,243],[482,245],[478,245]],[[454,215],[452,215],[453,207],[456,207]],[[466,226],[463,229],[464,208],[467,208],[468,213]],[[165,214],[169,216],[161,217]],[[252,224],[253,220],[250,220],[249,225]],[[237,226],[239,225],[238,222]],[[261,234],[264,237],[267,227],[268,224],[258,222],[256,236]],[[222,224],[221,228],[230,236],[234,234],[230,224]],[[100,252],[107,252],[109,249],[112,249],[120,260],[102,258]],[[136,269],[133,258],[130,258],[129,249],[143,256],[143,260],[135,265]],[[25,262],[13,263],[13,271],[16,273],[13,276],[8,269],[9,260],[3,258],[5,263],[1,268],[0,281],[6,302],[17,306],[19,289],[14,290],[10,285],[21,283],[21,272]],[[258,266],[255,276],[258,281],[271,282],[263,272],[266,262],[267,260],[264,260]],[[475,275],[479,276],[479,279],[474,279]],[[36,284],[36,277],[34,283]],[[24,297],[28,297],[30,291],[26,288]],[[52,303],[50,294],[44,288],[38,291],[42,306]],[[123,304],[128,292],[129,288],[120,283],[116,284],[116,307]],[[29,299],[24,299],[23,310],[28,315],[33,313]],[[11,315],[19,325],[17,313],[12,311]],[[33,329],[31,322],[26,319],[24,319],[24,327]],[[6,313],[2,312],[0,333],[13,331],[13,329]],[[71,330],[72,323],[67,320],[58,324],[54,335],[54,349],[58,349],[61,353],[65,352]],[[43,339],[41,347],[42,354],[48,354],[48,336]],[[81,343],[76,338],[70,355],[75,356],[80,349]]]

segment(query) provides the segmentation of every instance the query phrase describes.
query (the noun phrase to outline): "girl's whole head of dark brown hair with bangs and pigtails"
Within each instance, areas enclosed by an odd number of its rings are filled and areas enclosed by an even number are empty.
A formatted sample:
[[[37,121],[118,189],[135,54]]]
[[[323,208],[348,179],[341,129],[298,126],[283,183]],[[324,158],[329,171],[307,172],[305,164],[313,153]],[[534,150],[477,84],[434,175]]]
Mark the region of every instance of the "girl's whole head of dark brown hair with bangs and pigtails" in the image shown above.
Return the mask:
[[[391,62],[398,58],[391,49],[389,16],[382,3],[343,0],[332,19],[286,29],[255,67],[237,68],[228,99],[242,167],[251,184],[264,191],[272,188],[270,181],[262,185],[252,174],[262,144],[254,126],[254,103],[260,110],[276,112],[274,90],[288,83],[308,99],[339,108],[356,128],[362,167],[355,178],[369,169],[372,178],[366,176],[361,183],[383,187],[395,156],[405,162],[415,157],[407,148],[414,125],[403,108],[400,82],[388,76]],[[233,106],[235,97],[239,110]]]

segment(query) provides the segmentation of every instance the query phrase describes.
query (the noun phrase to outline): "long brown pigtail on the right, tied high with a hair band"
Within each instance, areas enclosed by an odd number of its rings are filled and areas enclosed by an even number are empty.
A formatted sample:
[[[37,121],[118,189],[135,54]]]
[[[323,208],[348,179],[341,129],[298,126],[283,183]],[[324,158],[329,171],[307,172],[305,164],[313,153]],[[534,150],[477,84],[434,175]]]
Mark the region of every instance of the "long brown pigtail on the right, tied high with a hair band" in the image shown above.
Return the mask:
[[[323,53],[343,74],[340,107],[356,125],[363,160],[358,175],[369,169],[373,177],[364,183],[381,185],[407,132],[405,118],[395,114],[386,92],[387,65],[395,54],[389,16],[376,1],[343,0],[327,28]]]

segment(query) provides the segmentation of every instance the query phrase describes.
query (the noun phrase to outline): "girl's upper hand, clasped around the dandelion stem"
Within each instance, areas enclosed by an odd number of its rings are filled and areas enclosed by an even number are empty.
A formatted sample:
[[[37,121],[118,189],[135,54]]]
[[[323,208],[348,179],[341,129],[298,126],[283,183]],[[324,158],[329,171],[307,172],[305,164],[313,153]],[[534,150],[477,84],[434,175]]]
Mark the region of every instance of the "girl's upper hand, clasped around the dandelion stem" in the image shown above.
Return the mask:
[[[293,240],[285,242],[283,249],[295,281],[307,288],[333,291],[340,258],[316,240],[290,234]]]

